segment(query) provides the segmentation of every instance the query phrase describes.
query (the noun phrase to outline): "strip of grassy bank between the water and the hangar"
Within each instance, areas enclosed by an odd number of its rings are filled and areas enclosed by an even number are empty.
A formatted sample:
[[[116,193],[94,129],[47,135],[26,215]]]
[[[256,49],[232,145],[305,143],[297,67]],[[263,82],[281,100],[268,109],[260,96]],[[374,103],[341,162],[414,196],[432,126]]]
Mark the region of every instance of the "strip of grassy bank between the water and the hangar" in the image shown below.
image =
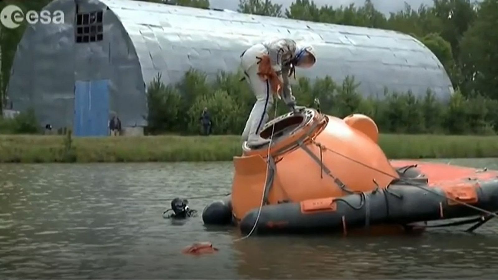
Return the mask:
[[[498,157],[498,136],[382,134],[390,159]],[[74,138],[0,135],[0,162],[231,161],[240,136],[140,136]]]

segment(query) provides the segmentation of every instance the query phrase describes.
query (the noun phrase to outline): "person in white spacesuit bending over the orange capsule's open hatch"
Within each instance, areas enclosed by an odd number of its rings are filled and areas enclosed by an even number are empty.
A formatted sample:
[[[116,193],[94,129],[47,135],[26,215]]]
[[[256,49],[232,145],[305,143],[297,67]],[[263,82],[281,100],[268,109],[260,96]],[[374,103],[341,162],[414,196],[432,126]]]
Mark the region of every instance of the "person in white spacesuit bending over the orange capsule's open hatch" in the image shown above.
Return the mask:
[[[262,67],[263,57],[271,67]],[[267,59],[269,57],[269,60]],[[295,97],[289,83],[289,77],[295,71],[294,67],[309,68],[316,62],[315,51],[305,43],[296,43],[291,39],[276,39],[255,44],[241,55],[241,66],[245,79],[256,97],[246,127],[242,133],[242,140],[248,146],[260,146],[270,140],[259,136],[261,128],[268,121],[268,111],[273,105],[273,94],[282,98],[289,109],[296,112],[304,109],[296,106]],[[263,69],[263,70],[262,70]],[[264,70],[266,69],[266,70]],[[268,71],[271,69],[271,71]],[[266,73],[262,73],[265,72]],[[271,73],[268,73],[271,72]],[[265,74],[266,78],[261,77]],[[273,76],[273,77],[270,77]],[[278,79],[278,80],[277,80]],[[278,84],[278,85],[275,85]],[[277,91],[275,91],[277,88]]]

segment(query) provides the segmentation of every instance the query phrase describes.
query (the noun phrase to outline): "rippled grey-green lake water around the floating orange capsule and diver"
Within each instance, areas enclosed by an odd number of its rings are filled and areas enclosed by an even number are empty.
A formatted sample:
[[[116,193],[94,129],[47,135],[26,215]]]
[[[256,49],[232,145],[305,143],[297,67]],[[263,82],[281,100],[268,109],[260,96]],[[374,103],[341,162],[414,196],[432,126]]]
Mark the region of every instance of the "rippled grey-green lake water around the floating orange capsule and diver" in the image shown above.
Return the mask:
[[[446,161],[447,162],[447,161]],[[498,169],[498,159],[452,160]],[[232,163],[0,165],[2,279],[491,279],[498,221],[475,234],[240,237],[200,213],[230,192]],[[163,219],[172,198],[199,216]],[[196,241],[220,251],[181,254]]]

